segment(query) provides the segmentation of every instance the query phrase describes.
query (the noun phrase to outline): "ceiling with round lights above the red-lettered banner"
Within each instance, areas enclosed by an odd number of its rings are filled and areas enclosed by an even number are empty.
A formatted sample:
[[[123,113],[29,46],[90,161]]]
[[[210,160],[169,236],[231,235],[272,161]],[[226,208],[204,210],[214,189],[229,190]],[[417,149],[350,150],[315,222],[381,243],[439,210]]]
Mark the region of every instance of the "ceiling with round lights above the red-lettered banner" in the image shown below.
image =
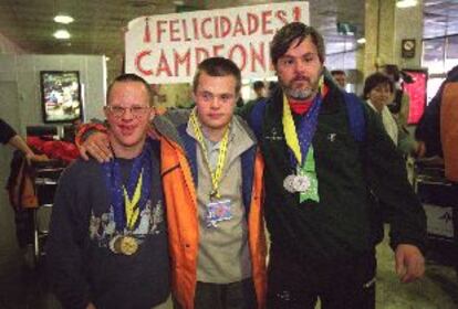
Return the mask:
[[[386,1],[386,0],[381,0]],[[179,6],[174,3],[180,2]],[[108,66],[121,71],[124,51],[123,32],[127,22],[140,15],[176,12],[177,9],[201,10],[249,6],[268,0],[0,0],[0,33],[27,53],[105,54]],[[364,0],[310,0],[311,24],[326,41],[327,53],[356,46],[364,36]],[[458,33],[457,0],[424,0],[425,38]],[[67,13],[75,21],[62,26],[53,22],[58,13]],[[336,22],[356,26],[354,36],[337,33]],[[67,29],[72,38],[58,41],[52,33]]]

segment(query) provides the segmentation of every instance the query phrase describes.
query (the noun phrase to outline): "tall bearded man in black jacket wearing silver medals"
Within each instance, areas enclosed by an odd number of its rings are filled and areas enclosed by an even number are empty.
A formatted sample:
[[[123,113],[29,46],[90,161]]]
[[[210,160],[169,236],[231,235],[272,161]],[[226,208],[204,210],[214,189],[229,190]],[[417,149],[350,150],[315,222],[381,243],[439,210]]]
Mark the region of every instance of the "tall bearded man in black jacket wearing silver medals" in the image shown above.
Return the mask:
[[[425,214],[404,161],[376,115],[360,102],[365,138],[356,140],[347,95],[324,74],[324,55],[323,39],[313,28],[283,26],[271,43],[280,88],[263,107],[244,110],[259,128],[266,161],[272,241],[268,308],[314,308],[319,297],[326,309],[374,308],[371,192],[389,206],[400,280],[424,273]]]

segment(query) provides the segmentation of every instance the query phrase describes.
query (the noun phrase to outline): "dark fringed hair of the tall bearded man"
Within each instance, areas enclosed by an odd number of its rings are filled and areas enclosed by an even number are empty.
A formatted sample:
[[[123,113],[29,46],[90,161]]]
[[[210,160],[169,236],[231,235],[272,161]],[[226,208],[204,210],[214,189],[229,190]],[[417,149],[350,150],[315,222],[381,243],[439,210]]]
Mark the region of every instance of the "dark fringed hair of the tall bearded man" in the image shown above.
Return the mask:
[[[270,44],[270,58],[273,65],[277,65],[278,60],[287,53],[291,44],[299,39],[296,45],[301,44],[308,36],[312,38],[313,44],[318,50],[318,55],[321,63],[324,62],[325,49],[323,36],[310,25],[302,22],[292,22],[283,25],[273,36]]]

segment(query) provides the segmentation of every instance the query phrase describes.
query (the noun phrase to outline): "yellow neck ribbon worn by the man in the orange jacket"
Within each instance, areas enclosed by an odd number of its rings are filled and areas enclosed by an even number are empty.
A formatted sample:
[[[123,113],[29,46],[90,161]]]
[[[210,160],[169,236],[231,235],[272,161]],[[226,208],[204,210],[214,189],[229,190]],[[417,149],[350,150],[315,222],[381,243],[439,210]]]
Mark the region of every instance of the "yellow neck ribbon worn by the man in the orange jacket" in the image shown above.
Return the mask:
[[[202,130],[200,129],[199,120],[197,119],[196,109],[192,110],[189,119],[192,124],[192,128],[194,128],[194,131],[196,134],[196,139],[200,143],[200,146],[202,147],[204,160],[205,160],[205,162],[208,167],[208,170],[210,171],[211,185],[212,185],[212,190],[211,190],[210,195],[215,195],[216,198],[219,199],[219,198],[221,198],[221,195],[218,192],[218,188],[219,188],[219,184],[221,182],[222,170],[225,168],[226,157],[227,157],[227,153],[228,153],[229,126],[227,126],[225,135],[221,139],[221,146],[219,147],[219,153],[218,153],[218,162],[217,162],[216,169],[212,171],[211,167],[210,167],[210,160],[208,158],[207,146],[206,146],[205,140],[204,140],[204,134],[202,134]]]

